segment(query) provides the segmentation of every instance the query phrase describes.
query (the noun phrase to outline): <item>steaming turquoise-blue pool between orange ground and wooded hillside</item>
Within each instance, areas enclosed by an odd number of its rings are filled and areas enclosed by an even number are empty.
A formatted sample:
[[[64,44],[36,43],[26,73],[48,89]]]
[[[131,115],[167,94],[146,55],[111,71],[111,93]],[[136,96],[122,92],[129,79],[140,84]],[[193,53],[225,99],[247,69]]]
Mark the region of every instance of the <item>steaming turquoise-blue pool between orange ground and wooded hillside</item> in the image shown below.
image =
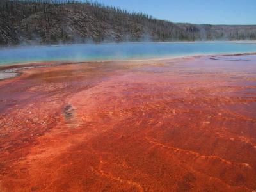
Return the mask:
[[[0,65],[33,61],[105,61],[256,52],[256,42],[74,44],[0,49]]]

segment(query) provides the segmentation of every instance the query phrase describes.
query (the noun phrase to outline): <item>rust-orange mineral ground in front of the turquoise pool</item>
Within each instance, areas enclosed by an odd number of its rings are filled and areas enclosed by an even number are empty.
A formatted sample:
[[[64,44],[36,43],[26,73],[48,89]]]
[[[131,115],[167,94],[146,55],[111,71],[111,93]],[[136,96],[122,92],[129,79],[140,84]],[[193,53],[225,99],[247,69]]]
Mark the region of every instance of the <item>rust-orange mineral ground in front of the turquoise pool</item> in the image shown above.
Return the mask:
[[[0,191],[255,190],[256,56],[76,63],[0,81]]]

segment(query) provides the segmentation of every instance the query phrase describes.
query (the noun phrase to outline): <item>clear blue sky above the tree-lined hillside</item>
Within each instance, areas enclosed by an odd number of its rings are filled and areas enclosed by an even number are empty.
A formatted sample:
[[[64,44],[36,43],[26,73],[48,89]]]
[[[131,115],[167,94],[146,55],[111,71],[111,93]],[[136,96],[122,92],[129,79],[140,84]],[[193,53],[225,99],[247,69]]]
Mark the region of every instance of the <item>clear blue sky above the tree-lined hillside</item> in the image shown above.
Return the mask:
[[[196,24],[256,24],[256,0],[97,0],[157,19]]]

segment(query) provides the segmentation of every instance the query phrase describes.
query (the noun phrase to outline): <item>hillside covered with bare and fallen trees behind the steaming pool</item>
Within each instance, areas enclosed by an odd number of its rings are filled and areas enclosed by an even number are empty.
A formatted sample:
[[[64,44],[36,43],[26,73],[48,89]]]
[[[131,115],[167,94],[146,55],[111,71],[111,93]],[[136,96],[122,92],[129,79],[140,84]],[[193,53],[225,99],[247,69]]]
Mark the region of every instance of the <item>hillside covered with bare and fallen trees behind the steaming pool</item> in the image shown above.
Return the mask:
[[[77,1],[0,3],[0,45],[144,40],[256,40],[256,25],[175,24],[143,13]]]

